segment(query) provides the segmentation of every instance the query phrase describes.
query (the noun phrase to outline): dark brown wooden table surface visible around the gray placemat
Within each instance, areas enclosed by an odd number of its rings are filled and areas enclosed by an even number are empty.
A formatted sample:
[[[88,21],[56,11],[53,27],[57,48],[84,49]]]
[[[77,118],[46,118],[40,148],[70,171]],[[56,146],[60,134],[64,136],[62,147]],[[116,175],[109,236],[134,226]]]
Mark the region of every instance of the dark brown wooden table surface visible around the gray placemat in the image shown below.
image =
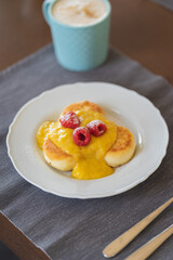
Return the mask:
[[[0,0],[0,70],[51,41],[42,1]],[[110,43],[173,84],[173,13],[149,0],[111,0]],[[48,257],[0,214],[0,239],[23,260]]]

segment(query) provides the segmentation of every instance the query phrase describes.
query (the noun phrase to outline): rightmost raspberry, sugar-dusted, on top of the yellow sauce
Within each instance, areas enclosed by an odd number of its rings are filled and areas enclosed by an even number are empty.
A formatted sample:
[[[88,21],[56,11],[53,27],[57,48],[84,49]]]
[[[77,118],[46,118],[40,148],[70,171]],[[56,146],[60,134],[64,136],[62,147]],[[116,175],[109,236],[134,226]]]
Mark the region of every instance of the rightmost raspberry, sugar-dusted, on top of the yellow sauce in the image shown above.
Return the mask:
[[[86,125],[86,128],[90,130],[90,133],[95,136],[101,136],[107,130],[106,125],[101,120],[93,120]]]

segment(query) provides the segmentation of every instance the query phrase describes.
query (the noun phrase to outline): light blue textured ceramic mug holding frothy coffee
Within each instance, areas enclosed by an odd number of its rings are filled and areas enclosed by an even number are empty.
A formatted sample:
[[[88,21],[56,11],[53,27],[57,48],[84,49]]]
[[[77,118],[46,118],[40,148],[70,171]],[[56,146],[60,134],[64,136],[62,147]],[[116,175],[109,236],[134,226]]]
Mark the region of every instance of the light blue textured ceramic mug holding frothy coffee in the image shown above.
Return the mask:
[[[95,68],[106,61],[108,53],[108,38],[111,6],[108,0],[103,0],[107,6],[107,14],[98,22],[74,26],[57,22],[52,15],[55,1],[45,0],[42,11],[48,22],[58,63],[70,70],[83,72]]]

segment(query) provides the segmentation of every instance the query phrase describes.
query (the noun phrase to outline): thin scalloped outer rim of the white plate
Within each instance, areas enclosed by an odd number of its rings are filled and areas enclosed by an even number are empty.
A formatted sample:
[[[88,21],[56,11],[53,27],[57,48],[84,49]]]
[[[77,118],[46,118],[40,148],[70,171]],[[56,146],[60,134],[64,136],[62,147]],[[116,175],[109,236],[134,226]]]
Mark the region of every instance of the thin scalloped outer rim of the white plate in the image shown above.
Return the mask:
[[[77,86],[77,84],[109,84],[111,87],[117,87],[117,88],[120,88],[121,90],[123,91],[128,91],[128,92],[131,92],[135,95],[138,95],[139,98],[144,99],[145,101],[147,101],[148,103],[150,103],[150,105],[156,109],[156,112],[158,113],[158,115],[160,116],[160,119],[162,120],[163,125],[164,125],[164,130],[167,132],[167,136],[165,136],[165,144],[164,144],[164,150],[162,151],[162,157],[159,159],[159,161],[152,166],[152,169],[150,171],[148,171],[143,178],[139,178],[137,179],[136,181],[132,182],[131,184],[129,184],[128,186],[124,186],[124,187],[121,187],[119,188],[118,191],[115,191],[115,193],[111,192],[106,192],[104,194],[90,194],[90,195],[83,195],[81,193],[77,193],[77,194],[69,194],[69,193],[63,193],[63,192],[59,192],[59,194],[57,194],[57,192],[55,191],[50,191],[50,188],[48,188],[46,186],[42,185],[42,184],[38,184],[38,183],[35,183],[34,181],[30,181],[27,177],[25,177],[25,174],[23,172],[21,172],[19,170],[19,167],[17,167],[17,162],[15,161],[15,159],[13,158],[13,155],[12,155],[12,150],[10,147],[10,138],[11,138],[11,134],[12,134],[12,130],[15,126],[15,122],[17,121],[19,115],[31,104],[31,103],[35,103],[36,101],[40,100],[42,96],[49,94],[50,92],[53,93],[54,91],[56,90],[59,90],[59,89],[63,89],[63,88],[72,88],[72,86]],[[127,89],[125,87],[122,87],[122,86],[119,86],[119,84],[116,84],[116,83],[110,83],[110,82],[105,82],[105,81],[85,81],[85,82],[82,82],[82,81],[79,81],[79,82],[74,82],[74,83],[67,83],[67,84],[59,84],[59,86],[56,86],[50,90],[45,90],[43,92],[41,92],[40,94],[34,96],[31,100],[29,100],[28,102],[26,102],[19,109],[18,112],[16,113],[16,115],[14,116],[12,122],[10,123],[9,126],[9,131],[8,131],[8,134],[6,134],[6,147],[8,147],[8,155],[13,164],[13,167],[15,168],[15,170],[17,171],[17,173],[19,176],[22,176],[27,182],[31,183],[32,185],[39,187],[40,190],[44,191],[44,192],[48,192],[48,193],[51,193],[51,194],[54,194],[56,196],[61,196],[61,197],[66,197],[66,198],[81,198],[81,199],[91,199],[91,198],[104,198],[104,197],[109,197],[109,196],[115,196],[115,195],[118,195],[118,194],[121,194],[121,193],[124,193],[131,188],[133,188],[134,186],[138,185],[139,183],[146,181],[158,168],[159,166],[161,165],[165,154],[167,154],[167,150],[168,150],[168,144],[169,144],[169,129],[168,129],[168,125],[164,120],[164,118],[162,117],[160,110],[158,109],[158,107],[156,107],[154,105],[154,103],[147,99],[146,96],[137,93],[135,90],[131,90],[131,89]]]

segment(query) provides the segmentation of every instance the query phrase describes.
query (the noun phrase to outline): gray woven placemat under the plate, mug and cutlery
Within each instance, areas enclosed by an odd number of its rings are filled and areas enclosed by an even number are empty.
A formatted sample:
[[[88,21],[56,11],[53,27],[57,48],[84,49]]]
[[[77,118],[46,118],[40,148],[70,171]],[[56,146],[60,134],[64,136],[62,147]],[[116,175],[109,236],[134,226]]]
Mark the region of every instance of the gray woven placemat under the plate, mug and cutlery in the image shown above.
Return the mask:
[[[148,180],[129,192],[99,199],[58,197],[26,182],[15,171],[8,157],[5,136],[16,112],[42,91],[77,81],[107,81],[133,89],[147,96],[161,110],[168,123],[170,144],[161,166]],[[65,70],[57,65],[52,46],[2,72],[0,74],[1,212],[53,260],[104,259],[102,250],[107,243],[173,195],[172,102],[173,87],[167,80],[152,75],[136,62],[112,50],[109,52],[107,63],[92,72],[78,74]],[[115,259],[124,259],[143,243],[170,225],[171,210],[172,207]],[[171,260],[171,242],[170,238],[150,259]]]

